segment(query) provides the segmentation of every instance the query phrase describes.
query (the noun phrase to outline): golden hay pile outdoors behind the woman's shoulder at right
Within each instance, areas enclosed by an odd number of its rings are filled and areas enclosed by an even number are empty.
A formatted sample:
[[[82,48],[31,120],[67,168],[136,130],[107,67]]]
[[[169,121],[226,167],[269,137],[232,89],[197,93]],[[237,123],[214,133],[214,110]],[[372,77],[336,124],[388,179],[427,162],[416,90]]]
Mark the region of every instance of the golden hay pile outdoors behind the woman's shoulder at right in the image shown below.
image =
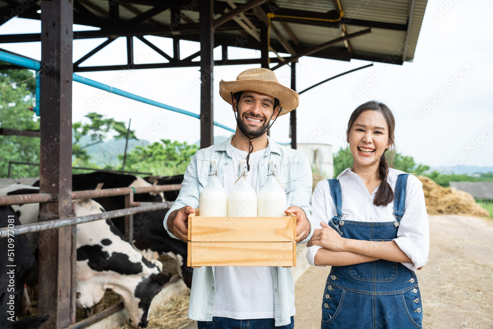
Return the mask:
[[[418,177],[423,183],[426,210],[429,215],[472,215],[490,217],[490,213],[476,204],[471,194],[455,188],[442,187],[427,177]]]

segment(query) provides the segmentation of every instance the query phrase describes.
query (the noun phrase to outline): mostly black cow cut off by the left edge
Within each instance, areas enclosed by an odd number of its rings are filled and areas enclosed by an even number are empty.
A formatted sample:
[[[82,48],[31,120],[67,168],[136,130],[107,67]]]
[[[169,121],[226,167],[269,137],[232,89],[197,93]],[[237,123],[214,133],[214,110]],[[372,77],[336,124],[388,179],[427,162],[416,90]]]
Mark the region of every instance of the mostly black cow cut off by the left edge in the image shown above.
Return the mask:
[[[20,225],[10,206],[0,206],[0,227],[13,228]],[[32,271],[35,256],[25,235],[7,236],[0,239],[0,328],[39,328],[49,316],[16,321],[20,313],[24,281]]]

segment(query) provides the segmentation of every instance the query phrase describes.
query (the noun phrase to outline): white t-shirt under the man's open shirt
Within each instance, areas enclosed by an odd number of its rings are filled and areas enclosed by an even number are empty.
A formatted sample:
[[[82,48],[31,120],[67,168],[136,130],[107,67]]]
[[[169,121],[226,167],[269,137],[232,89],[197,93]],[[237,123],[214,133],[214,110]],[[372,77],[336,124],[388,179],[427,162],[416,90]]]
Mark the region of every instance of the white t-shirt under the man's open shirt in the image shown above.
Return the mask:
[[[265,149],[250,154],[247,181],[258,195],[258,165]],[[233,165],[221,179],[229,193],[237,180],[238,161],[246,159],[247,152],[231,146]],[[237,320],[274,318],[274,293],[268,266],[217,266],[214,272],[216,297],[215,317]]]

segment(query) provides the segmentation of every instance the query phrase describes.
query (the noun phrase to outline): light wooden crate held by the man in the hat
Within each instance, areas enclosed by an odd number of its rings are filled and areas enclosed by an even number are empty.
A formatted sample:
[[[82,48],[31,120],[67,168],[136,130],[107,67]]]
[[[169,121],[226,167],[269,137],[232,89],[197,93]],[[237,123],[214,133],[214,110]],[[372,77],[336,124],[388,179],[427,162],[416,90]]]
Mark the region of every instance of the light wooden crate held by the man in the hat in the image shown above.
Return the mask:
[[[188,216],[187,265],[296,266],[296,216]]]

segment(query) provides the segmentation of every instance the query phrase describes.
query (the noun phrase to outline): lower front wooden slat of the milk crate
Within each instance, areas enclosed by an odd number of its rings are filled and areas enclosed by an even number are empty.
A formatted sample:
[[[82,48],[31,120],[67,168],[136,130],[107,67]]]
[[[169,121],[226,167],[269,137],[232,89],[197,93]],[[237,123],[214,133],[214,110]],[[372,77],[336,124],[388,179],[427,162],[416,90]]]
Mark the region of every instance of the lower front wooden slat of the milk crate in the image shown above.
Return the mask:
[[[189,242],[188,244],[190,266],[293,266],[292,241]]]

